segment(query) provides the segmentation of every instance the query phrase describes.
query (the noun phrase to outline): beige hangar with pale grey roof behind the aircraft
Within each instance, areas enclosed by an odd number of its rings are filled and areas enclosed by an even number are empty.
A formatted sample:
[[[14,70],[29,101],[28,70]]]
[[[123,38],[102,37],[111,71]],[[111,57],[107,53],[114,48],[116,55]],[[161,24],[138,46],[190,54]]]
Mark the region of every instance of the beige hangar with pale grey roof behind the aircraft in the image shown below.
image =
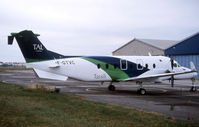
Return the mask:
[[[164,55],[164,50],[177,41],[154,40],[154,39],[133,39],[112,52],[114,56],[148,56]]]

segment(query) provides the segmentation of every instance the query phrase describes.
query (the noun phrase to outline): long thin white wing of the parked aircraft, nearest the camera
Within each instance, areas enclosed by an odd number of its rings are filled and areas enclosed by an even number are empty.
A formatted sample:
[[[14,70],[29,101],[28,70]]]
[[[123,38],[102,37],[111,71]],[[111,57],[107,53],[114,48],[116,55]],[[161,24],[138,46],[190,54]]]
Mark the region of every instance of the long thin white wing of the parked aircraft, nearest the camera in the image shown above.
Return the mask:
[[[184,71],[184,72],[172,72],[172,73],[141,75],[141,76],[137,76],[137,77],[128,78],[128,79],[125,79],[123,81],[156,80],[160,77],[167,77],[167,76],[172,76],[172,75],[181,75],[181,74],[187,74],[187,73],[193,73],[193,72],[197,72],[197,71],[191,70],[191,71]]]

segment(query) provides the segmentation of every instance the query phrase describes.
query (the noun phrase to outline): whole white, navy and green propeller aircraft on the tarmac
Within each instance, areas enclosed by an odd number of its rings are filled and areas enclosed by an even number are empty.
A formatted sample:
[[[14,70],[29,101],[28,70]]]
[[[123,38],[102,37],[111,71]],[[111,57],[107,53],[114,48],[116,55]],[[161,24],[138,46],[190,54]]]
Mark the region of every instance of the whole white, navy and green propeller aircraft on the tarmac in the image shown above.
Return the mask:
[[[68,77],[82,81],[113,82],[134,81],[140,85],[138,92],[145,94],[143,82],[174,79],[191,79],[197,75],[192,62],[191,69],[180,66],[165,56],[64,56],[47,50],[37,38],[38,34],[24,30],[11,33],[8,44],[15,38],[26,60],[40,78],[67,80]]]

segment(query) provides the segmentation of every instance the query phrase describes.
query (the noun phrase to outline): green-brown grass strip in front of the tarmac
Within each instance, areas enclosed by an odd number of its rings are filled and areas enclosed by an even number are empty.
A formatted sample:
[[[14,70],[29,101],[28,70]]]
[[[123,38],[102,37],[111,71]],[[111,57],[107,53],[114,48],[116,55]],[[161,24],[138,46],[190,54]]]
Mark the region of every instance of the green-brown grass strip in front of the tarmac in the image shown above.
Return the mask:
[[[0,82],[0,127],[193,127],[198,123]]]

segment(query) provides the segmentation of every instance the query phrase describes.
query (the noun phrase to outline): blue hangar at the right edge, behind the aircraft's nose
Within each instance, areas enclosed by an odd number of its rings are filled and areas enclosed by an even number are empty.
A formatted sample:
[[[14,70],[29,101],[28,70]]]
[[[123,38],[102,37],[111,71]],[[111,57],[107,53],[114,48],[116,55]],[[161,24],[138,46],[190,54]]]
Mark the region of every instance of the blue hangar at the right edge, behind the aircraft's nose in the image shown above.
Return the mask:
[[[166,56],[173,56],[179,64],[190,68],[190,61],[199,70],[199,33],[190,36],[165,50]],[[199,79],[199,75],[197,76]]]

